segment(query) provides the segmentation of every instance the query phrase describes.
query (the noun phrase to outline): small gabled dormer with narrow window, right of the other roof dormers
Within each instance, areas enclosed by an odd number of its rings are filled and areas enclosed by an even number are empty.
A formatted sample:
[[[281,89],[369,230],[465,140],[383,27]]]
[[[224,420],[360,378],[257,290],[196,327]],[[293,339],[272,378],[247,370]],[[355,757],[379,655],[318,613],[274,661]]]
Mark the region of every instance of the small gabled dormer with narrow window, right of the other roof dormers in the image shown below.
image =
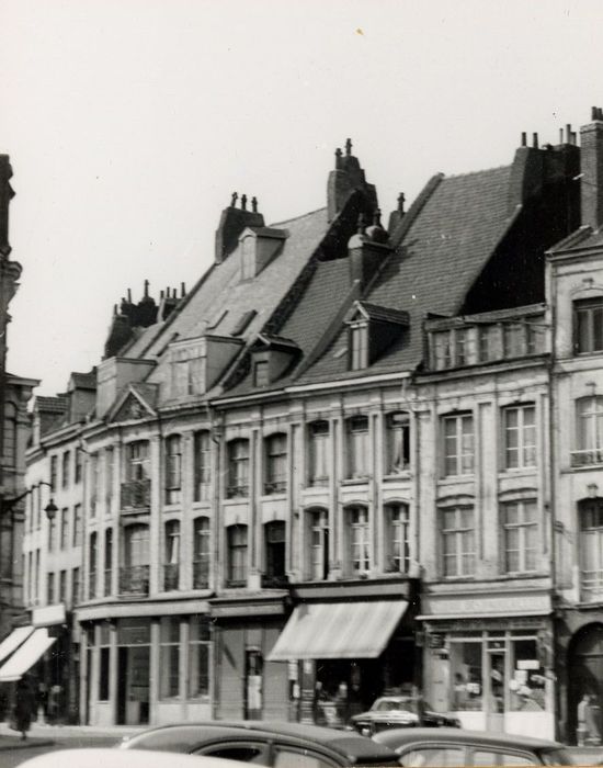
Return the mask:
[[[400,338],[409,326],[409,316],[401,309],[359,301],[354,302],[345,323],[349,327],[349,366],[351,371],[361,371]]]

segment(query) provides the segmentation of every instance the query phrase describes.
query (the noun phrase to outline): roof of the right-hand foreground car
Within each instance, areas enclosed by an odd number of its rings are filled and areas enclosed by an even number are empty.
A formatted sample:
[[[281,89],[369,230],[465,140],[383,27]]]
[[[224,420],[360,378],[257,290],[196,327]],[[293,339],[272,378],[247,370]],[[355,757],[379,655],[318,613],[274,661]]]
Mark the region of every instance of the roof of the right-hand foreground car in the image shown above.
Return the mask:
[[[501,746],[527,749],[564,749],[558,742],[532,736],[519,736],[509,733],[488,733],[487,731],[466,731],[464,729],[390,729],[373,736],[379,744],[396,749],[416,742],[471,742],[485,746]]]

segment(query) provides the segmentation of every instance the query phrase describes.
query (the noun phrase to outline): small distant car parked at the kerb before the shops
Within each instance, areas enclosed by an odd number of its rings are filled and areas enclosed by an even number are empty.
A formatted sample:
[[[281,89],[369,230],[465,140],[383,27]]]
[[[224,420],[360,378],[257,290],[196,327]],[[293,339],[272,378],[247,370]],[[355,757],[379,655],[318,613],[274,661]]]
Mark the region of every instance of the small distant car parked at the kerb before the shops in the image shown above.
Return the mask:
[[[386,729],[418,727],[460,727],[457,718],[435,712],[423,699],[413,696],[383,696],[367,712],[355,714],[350,724],[363,736],[372,736]]]

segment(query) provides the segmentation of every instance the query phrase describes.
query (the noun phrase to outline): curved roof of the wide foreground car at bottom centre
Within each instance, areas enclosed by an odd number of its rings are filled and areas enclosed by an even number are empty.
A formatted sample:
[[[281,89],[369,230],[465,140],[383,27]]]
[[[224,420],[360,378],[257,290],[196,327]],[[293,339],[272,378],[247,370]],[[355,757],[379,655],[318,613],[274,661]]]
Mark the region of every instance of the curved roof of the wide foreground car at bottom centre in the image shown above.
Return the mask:
[[[203,733],[200,733],[203,730]],[[196,732],[196,733],[195,733]],[[340,731],[337,729],[321,727],[320,725],[306,725],[304,723],[274,722],[263,720],[227,720],[227,721],[205,721],[200,723],[182,723],[173,725],[162,725],[150,729],[124,743],[135,746],[136,742],[145,735],[155,734],[158,737],[166,736],[166,744],[186,739],[186,744],[195,744],[200,741],[212,741],[213,738],[237,737],[242,733],[249,736],[270,738],[275,735],[298,738],[305,742],[314,742],[339,753],[341,757],[352,763],[378,763],[397,760],[395,753],[387,746],[373,742],[365,736],[361,736],[354,731]]]

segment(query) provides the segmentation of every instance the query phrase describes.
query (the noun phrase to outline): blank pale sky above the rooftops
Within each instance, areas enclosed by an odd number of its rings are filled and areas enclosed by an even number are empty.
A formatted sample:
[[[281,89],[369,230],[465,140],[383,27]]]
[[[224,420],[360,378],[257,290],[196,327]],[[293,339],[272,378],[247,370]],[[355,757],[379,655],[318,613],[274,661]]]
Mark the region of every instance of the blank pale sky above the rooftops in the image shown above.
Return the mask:
[[[603,105],[600,0],[0,0],[11,156],[9,369],[65,388],[112,306],[213,259],[221,208],[326,203],[351,136],[385,214],[437,171],[505,165],[520,134]]]

